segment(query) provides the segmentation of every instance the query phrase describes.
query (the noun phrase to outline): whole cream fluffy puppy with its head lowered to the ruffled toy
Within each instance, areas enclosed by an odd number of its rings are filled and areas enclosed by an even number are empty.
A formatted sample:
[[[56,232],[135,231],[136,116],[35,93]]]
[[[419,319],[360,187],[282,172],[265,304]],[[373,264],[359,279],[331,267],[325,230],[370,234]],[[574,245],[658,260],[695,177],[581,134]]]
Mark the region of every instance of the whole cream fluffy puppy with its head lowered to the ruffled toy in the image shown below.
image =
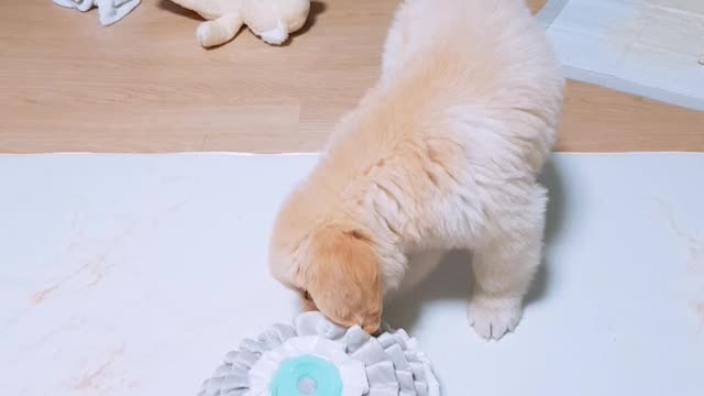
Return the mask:
[[[470,324],[487,339],[513,330],[541,261],[536,177],[563,84],[521,0],[406,0],[378,84],[283,206],[274,276],[309,308],[373,332],[385,296],[470,249]]]

